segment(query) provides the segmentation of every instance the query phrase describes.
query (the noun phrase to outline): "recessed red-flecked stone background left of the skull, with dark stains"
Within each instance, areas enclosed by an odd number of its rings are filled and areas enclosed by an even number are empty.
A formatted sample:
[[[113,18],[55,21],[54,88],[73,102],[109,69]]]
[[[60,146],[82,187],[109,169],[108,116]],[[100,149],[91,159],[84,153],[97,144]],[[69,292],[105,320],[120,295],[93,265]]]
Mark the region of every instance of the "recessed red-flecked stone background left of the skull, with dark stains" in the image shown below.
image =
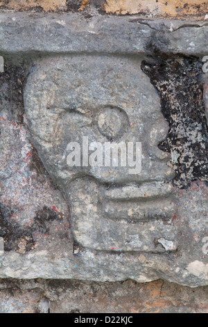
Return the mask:
[[[4,250],[26,253],[39,234],[48,237],[51,225],[65,234],[68,208],[31,144],[22,98],[26,74],[15,65],[5,68],[0,77],[0,236]]]

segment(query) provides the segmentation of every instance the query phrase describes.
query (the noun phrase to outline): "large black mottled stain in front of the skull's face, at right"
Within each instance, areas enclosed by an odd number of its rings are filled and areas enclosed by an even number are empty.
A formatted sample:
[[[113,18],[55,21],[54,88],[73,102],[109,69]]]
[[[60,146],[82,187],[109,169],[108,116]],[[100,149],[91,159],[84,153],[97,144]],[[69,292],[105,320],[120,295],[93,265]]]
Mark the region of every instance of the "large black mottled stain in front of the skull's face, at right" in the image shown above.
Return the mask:
[[[171,152],[173,184],[187,188],[194,180],[208,181],[208,129],[203,101],[202,63],[196,56],[164,54],[154,49],[141,63],[161,99],[169,125],[159,149]]]

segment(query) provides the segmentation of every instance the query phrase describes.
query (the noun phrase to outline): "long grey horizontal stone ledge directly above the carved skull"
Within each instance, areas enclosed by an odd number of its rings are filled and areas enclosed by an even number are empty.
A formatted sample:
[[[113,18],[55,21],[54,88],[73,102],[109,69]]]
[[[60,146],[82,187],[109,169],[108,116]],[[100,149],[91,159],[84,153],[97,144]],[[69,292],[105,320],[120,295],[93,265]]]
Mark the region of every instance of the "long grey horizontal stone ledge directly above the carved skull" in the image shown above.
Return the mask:
[[[164,53],[207,55],[205,21],[87,17],[79,14],[0,14],[1,53]],[[122,33],[121,33],[122,31]]]

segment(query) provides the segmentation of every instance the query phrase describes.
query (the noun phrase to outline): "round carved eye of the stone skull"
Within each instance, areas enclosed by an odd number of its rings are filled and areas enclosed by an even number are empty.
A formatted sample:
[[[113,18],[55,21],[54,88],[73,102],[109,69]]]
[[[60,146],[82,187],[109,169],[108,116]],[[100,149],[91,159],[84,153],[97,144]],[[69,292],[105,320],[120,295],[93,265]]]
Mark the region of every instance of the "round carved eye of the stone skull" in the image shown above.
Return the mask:
[[[98,130],[107,138],[119,138],[129,127],[128,115],[119,108],[108,106],[96,116]]]

